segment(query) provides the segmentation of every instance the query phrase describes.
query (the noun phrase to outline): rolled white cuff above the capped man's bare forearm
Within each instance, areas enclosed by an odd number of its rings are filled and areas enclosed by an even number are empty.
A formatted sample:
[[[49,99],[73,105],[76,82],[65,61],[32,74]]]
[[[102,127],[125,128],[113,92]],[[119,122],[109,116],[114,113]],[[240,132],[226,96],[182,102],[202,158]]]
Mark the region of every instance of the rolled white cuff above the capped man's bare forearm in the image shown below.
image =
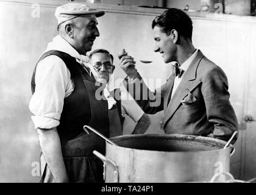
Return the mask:
[[[52,129],[60,124],[59,120],[45,116],[31,116],[31,119],[34,122],[35,129]]]

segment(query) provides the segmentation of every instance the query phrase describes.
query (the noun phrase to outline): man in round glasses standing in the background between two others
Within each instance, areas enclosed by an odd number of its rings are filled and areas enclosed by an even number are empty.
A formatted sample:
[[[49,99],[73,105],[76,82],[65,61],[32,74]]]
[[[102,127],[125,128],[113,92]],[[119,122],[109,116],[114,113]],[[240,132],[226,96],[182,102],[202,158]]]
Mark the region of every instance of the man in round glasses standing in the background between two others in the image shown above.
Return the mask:
[[[130,96],[126,88],[116,88],[108,91],[108,82],[113,74],[113,55],[105,49],[96,49],[90,54],[90,64],[93,66],[94,77],[102,82],[101,88],[104,98],[108,101],[108,117],[110,122],[110,137],[123,135],[124,115],[137,122],[132,134],[143,134],[151,124],[151,119],[139,107],[137,102]],[[92,68],[91,68],[92,69]],[[98,93],[101,96],[101,93]],[[99,97],[100,98],[100,97]]]

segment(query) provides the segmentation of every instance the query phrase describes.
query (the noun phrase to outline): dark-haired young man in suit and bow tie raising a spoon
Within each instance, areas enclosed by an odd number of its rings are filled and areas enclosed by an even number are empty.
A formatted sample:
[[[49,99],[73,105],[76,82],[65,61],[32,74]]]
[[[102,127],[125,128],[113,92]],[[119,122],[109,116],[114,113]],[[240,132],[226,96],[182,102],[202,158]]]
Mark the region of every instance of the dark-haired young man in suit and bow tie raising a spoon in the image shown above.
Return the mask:
[[[238,130],[238,122],[229,102],[227,77],[219,66],[194,48],[190,17],[182,10],[168,9],[155,17],[152,29],[155,52],[162,54],[165,63],[173,63],[172,74],[165,85],[152,93],[138,74],[133,58],[123,55],[119,65],[127,74],[124,80],[127,89],[136,89],[129,91],[133,98],[145,113],[164,110],[166,133],[229,140]],[[156,94],[160,101],[142,99],[145,92],[149,97]]]

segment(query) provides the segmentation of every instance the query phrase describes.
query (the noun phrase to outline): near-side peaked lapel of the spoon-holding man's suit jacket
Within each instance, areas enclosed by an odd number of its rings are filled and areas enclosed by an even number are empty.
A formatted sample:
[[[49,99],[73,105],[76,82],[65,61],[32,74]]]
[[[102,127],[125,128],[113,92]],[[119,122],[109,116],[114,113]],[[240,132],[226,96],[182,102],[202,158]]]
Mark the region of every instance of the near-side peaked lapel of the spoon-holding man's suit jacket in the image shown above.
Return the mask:
[[[194,58],[193,62],[191,62],[190,66],[188,67],[187,71],[185,72],[183,79],[181,80],[179,86],[177,87],[175,93],[173,94],[171,101],[167,105],[165,109],[165,119],[164,119],[164,126],[166,122],[174,115],[177,108],[182,104],[180,101],[187,96],[188,91],[193,90],[201,81],[196,80],[196,70],[197,66],[199,65],[202,57],[204,54],[200,50],[198,50],[196,57]],[[175,78],[175,77],[174,77]],[[172,88],[173,88],[174,79],[172,80],[172,86],[170,88],[169,96],[171,96]]]

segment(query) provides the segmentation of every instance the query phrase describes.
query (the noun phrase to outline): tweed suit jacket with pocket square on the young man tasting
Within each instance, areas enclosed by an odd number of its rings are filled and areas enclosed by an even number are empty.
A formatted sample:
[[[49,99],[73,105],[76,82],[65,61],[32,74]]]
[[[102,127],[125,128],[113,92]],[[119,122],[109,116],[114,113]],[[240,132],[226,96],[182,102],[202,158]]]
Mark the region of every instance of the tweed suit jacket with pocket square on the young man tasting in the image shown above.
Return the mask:
[[[198,51],[171,98],[175,77],[172,74],[154,92],[146,87],[140,74],[133,83],[128,83],[127,79],[124,83],[145,113],[164,110],[162,122],[166,133],[229,140],[238,130],[238,121],[229,101],[227,77],[222,69]],[[147,99],[143,98],[145,93]]]

